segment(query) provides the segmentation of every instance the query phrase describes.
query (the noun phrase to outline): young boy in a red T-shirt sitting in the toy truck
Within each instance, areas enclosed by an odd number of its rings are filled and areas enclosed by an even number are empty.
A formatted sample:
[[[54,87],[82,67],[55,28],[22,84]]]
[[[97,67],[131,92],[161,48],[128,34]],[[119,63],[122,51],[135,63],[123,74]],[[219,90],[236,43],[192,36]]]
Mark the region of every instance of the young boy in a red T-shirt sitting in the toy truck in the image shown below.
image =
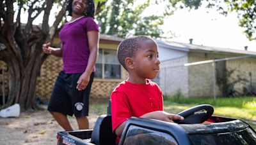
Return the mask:
[[[117,57],[129,72],[129,78],[111,93],[112,129],[120,136],[132,116],[162,121],[183,120],[182,116],[163,111],[162,92],[150,81],[159,72],[157,44],[147,36],[125,39],[118,46]]]

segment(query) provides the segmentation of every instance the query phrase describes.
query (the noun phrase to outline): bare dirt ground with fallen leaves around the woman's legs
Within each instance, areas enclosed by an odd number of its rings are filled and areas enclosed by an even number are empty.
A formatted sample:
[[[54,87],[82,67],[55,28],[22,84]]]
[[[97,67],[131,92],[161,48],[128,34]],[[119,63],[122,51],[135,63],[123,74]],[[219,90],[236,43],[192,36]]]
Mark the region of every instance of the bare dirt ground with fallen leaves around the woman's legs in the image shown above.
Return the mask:
[[[99,116],[89,114],[90,128]],[[76,118],[68,117],[74,130]],[[63,130],[48,111],[27,111],[19,118],[0,118],[0,144],[56,144],[57,132]]]

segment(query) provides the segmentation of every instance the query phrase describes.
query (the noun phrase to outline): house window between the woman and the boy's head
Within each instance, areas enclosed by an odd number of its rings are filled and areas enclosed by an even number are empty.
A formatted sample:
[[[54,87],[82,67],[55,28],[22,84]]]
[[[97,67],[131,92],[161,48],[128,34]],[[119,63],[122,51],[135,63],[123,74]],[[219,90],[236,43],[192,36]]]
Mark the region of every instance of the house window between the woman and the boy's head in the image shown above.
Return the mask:
[[[99,49],[95,77],[102,79],[121,78],[121,65],[118,62],[115,50]]]

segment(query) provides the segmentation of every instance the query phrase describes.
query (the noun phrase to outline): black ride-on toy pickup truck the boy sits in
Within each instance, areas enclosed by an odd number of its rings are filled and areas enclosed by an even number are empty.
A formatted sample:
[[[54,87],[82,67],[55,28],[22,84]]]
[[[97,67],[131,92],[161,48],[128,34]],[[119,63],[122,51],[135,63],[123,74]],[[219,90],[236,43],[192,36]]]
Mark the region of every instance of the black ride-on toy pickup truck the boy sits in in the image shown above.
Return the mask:
[[[211,105],[195,106],[179,113],[185,119],[176,123],[132,117],[119,144],[256,144],[256,132],[250,125],[212,116],[213,111]],[[98,118],[93,130],[58,132],[57,139],[58,144],[115,144],[109,109],[107,115]]]

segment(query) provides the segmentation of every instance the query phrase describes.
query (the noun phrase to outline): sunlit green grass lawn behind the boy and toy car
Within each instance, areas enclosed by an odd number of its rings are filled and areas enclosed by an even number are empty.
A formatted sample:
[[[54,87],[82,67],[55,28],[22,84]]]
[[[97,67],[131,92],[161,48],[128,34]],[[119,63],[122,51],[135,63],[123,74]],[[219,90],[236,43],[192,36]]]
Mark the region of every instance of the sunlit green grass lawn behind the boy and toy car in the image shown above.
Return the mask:
[[[108,99],[91,99],[90,103],[90,113],[106,114]],[[176,114],[198,104],[211,104],[214,107],[214,115],[239,118],[256,130],[256,97],[217,98],[216,101],[211,97],[165,97],[164,111]]]

